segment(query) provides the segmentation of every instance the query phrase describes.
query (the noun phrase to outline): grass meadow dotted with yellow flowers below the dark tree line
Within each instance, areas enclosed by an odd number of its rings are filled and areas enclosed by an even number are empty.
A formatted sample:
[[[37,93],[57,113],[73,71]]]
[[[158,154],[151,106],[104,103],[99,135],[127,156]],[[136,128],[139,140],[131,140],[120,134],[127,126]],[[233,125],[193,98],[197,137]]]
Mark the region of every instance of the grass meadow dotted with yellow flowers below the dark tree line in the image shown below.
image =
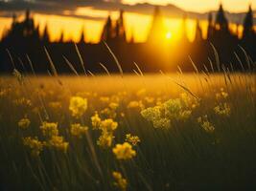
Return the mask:
[[[1,76],[0,190],[255,190],[255,74]]]

